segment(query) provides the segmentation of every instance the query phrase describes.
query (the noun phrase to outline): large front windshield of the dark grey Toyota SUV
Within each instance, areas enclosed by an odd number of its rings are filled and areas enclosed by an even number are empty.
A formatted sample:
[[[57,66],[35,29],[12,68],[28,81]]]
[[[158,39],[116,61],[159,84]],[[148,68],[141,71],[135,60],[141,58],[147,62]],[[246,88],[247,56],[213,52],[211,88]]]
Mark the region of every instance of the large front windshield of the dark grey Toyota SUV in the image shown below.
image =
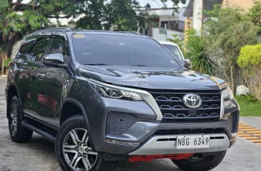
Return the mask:
[[[104,34],[74,34],[72,38],[76,60],[82,65],[180,67],[150,38]]]

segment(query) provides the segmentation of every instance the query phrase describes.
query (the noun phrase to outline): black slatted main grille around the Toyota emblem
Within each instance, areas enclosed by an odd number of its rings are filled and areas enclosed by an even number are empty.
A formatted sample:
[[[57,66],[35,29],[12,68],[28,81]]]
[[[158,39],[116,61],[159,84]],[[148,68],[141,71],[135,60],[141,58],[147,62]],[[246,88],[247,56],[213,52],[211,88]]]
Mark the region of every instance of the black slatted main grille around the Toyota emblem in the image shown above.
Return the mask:
[[[185,106],[185,94],[198,94],[202,104],[198,109]],[[221,92],[218,91],[172,91],[150,92],[157,102],[163,121],[217,121],[220,118]]]

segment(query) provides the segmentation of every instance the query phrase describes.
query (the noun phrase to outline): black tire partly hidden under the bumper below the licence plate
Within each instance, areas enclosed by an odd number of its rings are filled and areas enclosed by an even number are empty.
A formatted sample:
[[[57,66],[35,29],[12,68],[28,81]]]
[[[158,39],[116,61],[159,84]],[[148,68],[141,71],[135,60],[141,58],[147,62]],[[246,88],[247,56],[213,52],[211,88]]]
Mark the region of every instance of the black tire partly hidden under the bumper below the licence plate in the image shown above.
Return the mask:
[[[183,160],[172,160],[175,165],[180,167],[182,170],[189,171],[205,171],[212,170],[218,166],[225,157],[227,151],[220,151],[215,155],[202,155],[196,154],[193,157]]]

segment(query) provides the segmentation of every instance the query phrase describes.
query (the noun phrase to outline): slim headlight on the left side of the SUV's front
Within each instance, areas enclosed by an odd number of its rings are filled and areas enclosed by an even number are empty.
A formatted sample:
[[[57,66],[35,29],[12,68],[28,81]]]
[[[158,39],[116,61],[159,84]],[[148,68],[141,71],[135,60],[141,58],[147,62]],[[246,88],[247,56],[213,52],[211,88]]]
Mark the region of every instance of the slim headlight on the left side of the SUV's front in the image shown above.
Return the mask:
[[[101,96],[113,98],[113,99],[123,99],[130,101],[143,101],[139,94],[135,92],[130,92],[125,89],[121,89],[121,87],[110,86],[108,84],[103,84],[102,82],[96,82],[94,80],[89,79],[88,82],[91,84],[93,89],[101,94]]]

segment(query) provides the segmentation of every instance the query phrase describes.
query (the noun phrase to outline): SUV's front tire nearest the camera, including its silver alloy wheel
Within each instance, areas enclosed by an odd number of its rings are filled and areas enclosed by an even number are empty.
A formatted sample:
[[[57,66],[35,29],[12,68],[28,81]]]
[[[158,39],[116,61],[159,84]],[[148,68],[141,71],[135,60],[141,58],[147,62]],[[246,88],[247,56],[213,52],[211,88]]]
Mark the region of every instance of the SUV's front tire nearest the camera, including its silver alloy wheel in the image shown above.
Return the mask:
[[[115,170],[115,162],[107,162],[103,159],[103,153],[91,147],[86,121],[81,115],[72,116],[62,124],[55,147],[56,158],[63,171]]]

